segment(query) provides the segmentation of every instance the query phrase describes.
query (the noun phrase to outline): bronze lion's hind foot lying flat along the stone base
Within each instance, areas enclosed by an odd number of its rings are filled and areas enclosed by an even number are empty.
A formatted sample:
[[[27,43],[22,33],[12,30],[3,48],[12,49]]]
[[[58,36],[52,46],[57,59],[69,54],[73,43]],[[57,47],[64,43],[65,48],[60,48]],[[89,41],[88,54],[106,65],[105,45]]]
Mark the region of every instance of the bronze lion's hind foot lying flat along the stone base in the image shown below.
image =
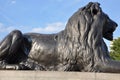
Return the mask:
[[[35,62],[34,60],[28,59],[19,64],[7,64],[4,61],[0,61],[0,70],[41,70],[46,71],[47,69]]]

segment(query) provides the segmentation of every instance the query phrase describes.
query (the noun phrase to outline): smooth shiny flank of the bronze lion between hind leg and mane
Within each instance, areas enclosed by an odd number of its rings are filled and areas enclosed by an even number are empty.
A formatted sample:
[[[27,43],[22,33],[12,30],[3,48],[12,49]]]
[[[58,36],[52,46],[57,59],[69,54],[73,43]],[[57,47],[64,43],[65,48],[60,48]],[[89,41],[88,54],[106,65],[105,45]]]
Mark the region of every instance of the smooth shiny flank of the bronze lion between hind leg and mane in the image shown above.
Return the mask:
[[[56,66],[58,61],[57,41],[55,35],[25,34],[31,40],[31,49],[28,57],[41,65]],[[53,61],[54,60],[54,61]]]

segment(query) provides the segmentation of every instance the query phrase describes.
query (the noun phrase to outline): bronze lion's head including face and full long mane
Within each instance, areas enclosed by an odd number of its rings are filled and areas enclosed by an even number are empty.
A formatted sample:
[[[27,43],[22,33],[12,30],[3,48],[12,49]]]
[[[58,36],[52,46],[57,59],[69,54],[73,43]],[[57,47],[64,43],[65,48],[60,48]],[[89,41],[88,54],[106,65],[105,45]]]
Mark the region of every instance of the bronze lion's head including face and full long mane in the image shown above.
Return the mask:
[[[64,31],[66,47],[61,51],[72,53],[70,55],[79,59],[80,65],[91,71],[95,69],[97,60],[104,61],[109,57],[103,37],[112,40],[116,27],[117,24],[102,11],[99,3],[90,2],[69,19]]]

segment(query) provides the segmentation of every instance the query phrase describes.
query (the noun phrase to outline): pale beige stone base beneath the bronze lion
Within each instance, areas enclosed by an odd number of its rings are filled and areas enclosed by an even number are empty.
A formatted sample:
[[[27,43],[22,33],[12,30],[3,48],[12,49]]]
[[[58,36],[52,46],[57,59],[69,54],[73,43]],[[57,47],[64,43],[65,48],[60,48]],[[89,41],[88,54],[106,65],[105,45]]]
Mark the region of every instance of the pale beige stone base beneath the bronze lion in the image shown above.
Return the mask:
[[[0,80],[120,80],[120,74],[52,71],[0,71]]]

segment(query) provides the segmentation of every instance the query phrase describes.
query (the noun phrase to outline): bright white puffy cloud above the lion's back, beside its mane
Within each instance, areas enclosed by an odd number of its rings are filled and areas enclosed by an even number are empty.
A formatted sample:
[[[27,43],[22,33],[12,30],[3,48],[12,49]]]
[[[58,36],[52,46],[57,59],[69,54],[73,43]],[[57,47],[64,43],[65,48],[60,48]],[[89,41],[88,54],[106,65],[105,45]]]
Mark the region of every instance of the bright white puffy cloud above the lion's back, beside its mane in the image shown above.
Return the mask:
[[[37,33],[56,33],[65,28],[65,23],[62,22],[56,22],[47,24],[46,27],[36,27],[32,29],[32,32]]]

